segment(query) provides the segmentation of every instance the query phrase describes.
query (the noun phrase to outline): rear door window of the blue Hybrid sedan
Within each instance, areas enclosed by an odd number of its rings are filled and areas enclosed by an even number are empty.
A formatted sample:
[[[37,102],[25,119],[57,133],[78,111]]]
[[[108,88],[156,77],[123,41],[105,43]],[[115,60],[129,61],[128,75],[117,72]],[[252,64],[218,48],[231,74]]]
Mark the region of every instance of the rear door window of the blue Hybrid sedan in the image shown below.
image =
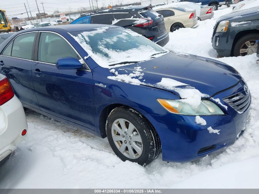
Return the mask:
[[[32,59],[32,49],[36,32],[17,36],[13,42],[12,57]]]

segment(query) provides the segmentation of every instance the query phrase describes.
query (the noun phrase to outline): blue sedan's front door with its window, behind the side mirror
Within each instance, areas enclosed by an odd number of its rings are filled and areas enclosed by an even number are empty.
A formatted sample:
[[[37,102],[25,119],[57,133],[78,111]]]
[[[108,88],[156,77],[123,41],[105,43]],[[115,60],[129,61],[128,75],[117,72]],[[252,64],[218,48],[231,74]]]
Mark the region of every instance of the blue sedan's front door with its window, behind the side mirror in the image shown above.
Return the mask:
[[[38,50],[38,52],[37,52]],[[90,70],[60,70],[56,60],[82,59],[68,41],[53,32],[40,32],[32,80],[40,110],[94,129],[93,74]]]

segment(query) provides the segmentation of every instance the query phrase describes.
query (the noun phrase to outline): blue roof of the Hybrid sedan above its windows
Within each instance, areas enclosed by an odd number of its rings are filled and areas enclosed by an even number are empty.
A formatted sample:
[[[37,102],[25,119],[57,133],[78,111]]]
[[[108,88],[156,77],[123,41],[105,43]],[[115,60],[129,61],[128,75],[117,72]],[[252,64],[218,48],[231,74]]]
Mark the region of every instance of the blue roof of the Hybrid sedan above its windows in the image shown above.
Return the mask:
[[[93,30],[101,27],[115,27],[114,25],[105,25],[105,24],[67,24],[67,25],[54,25],[40,28],[32,28],[22,30],[21,32],[32,32],[32,31],[56,31],[57,29],[63,29],[67,32],[78,32],[78,31],[86,31]],[[118,27],[119,28],[119,27]]]

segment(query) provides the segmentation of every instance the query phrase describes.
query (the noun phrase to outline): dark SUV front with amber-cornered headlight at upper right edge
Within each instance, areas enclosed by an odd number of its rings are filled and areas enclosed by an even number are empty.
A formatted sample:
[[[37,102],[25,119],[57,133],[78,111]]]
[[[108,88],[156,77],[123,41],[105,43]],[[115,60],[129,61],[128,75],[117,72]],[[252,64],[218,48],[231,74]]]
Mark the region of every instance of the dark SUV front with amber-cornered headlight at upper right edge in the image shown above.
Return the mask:
[[[223,57],[257,52],[259,6],[219,17],[211,37],[212,47]]]

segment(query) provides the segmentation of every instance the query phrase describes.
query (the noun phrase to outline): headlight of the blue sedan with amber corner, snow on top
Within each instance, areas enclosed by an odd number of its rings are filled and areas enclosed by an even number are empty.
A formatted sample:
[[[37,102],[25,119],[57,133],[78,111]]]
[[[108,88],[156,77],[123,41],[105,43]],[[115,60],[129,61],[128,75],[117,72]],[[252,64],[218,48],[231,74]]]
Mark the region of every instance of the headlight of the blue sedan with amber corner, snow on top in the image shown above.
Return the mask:
[[[197,109],[192,108],[188,103],[180,100],[157,99],[157,101],[168,112],[179,115],[224,115],[224,112],[213,102],[201,100],[200,106]]]

